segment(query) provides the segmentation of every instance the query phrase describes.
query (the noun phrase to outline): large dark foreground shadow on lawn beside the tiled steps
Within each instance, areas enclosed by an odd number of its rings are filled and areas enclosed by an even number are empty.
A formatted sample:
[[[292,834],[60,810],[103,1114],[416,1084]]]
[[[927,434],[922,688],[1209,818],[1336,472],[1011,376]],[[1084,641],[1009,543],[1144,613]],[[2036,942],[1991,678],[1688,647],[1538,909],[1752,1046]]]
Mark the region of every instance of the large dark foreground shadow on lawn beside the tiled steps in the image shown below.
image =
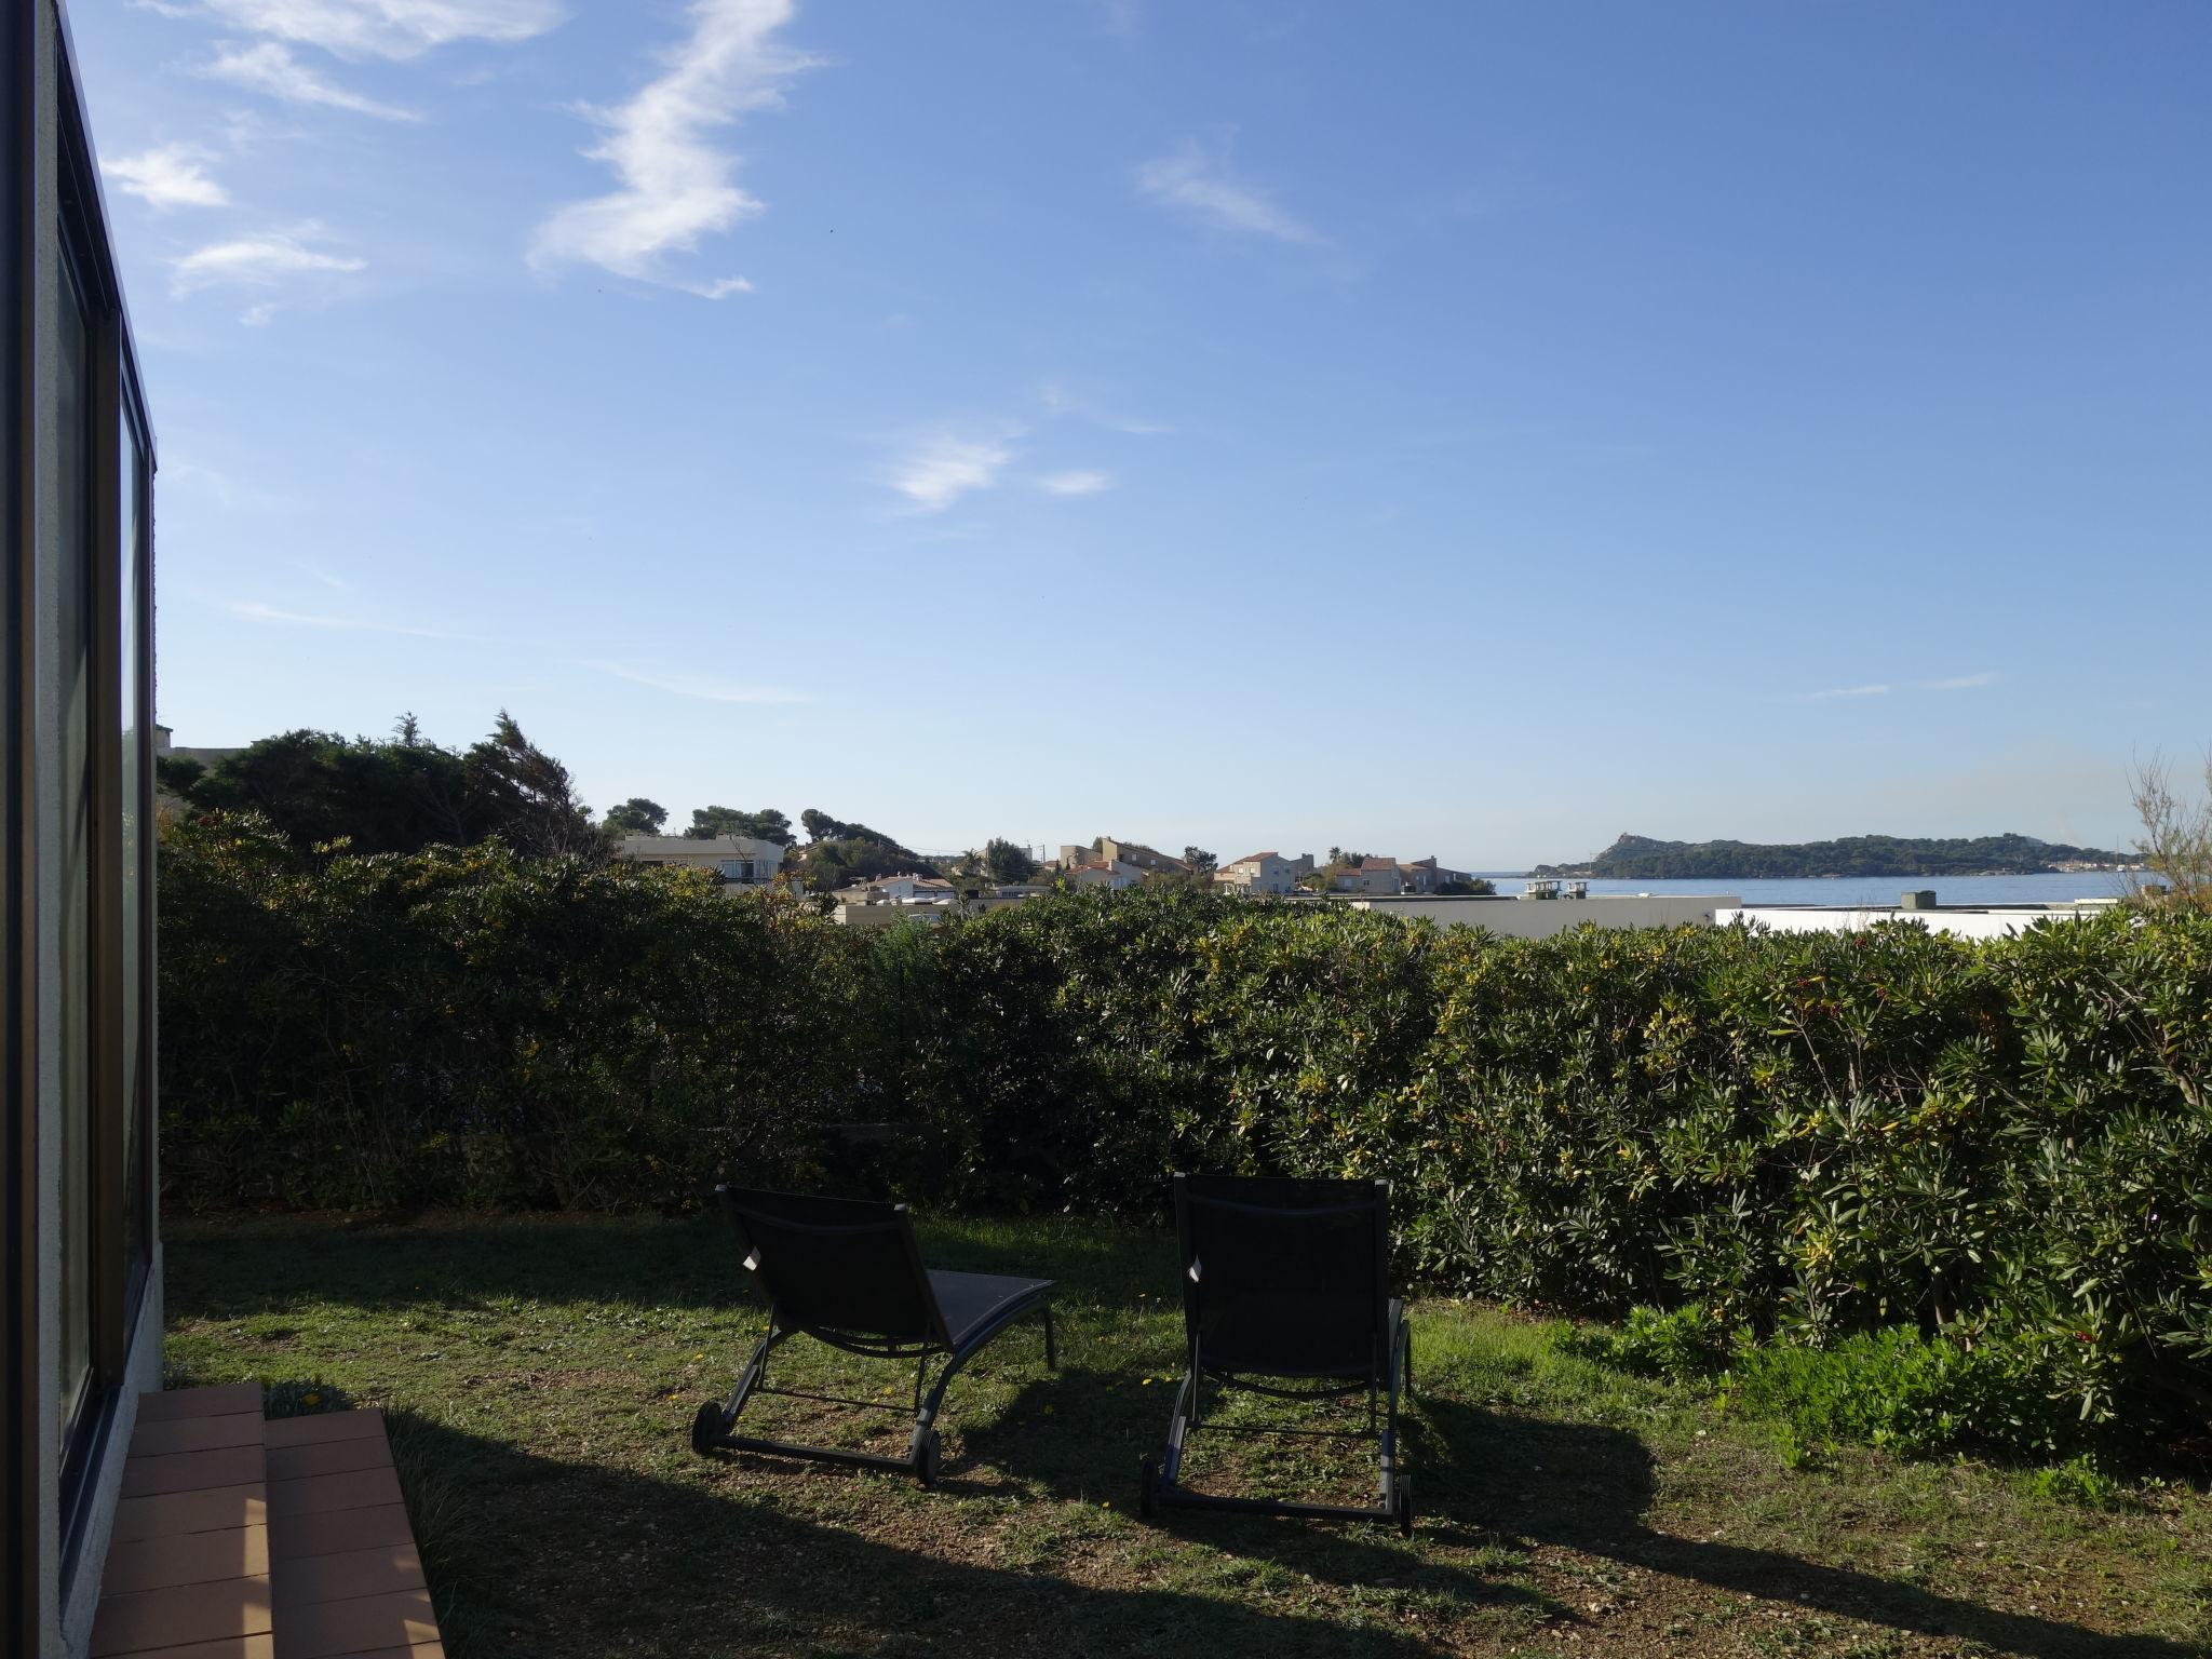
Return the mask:
[[[458,1659],[500,1655],[1431,1655],[1418,1637],[1179,1590],[1097,1588],[949,1559],[947,1522],[995,1522],[883,1478],[860,1537],[712,1473],[657,1480],[411,1418],[394,1449]],[[980,1506],[978,1506],[980,1509]]]

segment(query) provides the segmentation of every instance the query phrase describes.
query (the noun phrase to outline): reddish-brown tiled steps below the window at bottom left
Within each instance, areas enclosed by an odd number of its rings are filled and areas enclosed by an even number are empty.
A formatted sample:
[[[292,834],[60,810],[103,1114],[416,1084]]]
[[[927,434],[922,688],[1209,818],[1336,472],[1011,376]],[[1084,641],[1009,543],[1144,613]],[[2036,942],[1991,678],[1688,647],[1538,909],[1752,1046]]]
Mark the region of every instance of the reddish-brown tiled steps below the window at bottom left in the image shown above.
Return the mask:
[[[261,1389],[148,1394],[95,1659],[445,1659],[383,1411],[261,1416]]]

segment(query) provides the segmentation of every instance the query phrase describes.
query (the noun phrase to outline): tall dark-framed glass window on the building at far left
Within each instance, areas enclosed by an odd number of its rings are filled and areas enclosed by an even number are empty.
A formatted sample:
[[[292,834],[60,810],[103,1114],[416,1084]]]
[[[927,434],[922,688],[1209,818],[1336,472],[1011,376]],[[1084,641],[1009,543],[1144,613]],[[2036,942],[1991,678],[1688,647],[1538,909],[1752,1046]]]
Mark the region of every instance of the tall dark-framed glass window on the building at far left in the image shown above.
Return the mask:
[[[40,987],[58,1086],[38,1135],[60,1161],[60,1248],[51,1349],[64,1573],[84,1537],[91,1478],[131,1365],[155,1243],[153,1199],[153,442],[139,403],[91,150],[66,58],[58,75],[60,217],[55,303],[42,316],[35,394],[51,420],[51,511],[38,520],[44,626],[31,677],[51,686],[33,743],[53,757],[33,814],[51,825],[35,858],[51,905],[40,933],[58,978]]]

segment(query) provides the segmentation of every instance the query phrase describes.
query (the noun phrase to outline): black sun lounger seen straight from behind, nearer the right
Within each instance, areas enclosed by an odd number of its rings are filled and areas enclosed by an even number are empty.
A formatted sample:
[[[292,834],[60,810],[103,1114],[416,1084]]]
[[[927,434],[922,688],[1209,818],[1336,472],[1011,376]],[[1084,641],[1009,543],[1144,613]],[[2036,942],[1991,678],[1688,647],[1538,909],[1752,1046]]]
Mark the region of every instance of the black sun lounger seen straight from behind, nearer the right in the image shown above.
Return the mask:
[[[1285,1181],[1177,1175],[1175,1232],[1183,1259],[1183,1385],[1175,1394],[1168,1455],[1144,1460],[1139,1509],[1237,1509],[1259,1515],[1394,1522],[1413,1533],[1413,1486],[1398,1469],[1398,1398],[1411,1387],[1405,1307],[1389,1294],[1389,1181]],[[1183,1444],[1206,1425],[1212,1385],[1279,1400],[1367,1391],[1376,1438],[1378,1502],[1294,1504],[1270,1498],[1208,1498],[1177,1484]],[[1305,1433],[1237,1429],[1241,1433]]]

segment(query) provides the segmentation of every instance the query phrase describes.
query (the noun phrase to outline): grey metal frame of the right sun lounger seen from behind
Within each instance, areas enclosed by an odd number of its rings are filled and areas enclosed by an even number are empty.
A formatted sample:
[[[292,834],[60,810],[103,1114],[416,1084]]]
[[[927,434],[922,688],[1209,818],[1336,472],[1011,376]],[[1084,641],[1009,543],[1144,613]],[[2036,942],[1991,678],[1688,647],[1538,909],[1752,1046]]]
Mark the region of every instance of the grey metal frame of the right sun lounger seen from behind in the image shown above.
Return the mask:
[[[1385,1522],[1413,1535],[1413,1482],[1398,1462],[1398,1405],[1411,1398],[1413,1389],[1413,1332],[1405,1318],[1405,1303],[1389,1294],[1389,1181],[1376,1181],[1376,1301],[1385,1310],[1380,1332],[1380,1365],[1369,1365],[1365,1376],[1338,1371],[1267,1371],[1267,1378],[1305,1378],[1307,1387],[1276,1387],[1261,1383],[1254,1374],[1237,1374],[1206,1363],[1199,1338],[1199,1296],[1206,1294],[1203,1279],[1192,1283],[1188,1263],[1192,1261],[1190,1237],[1190,1192],[1186,1177],[1175,1177],[1175,1232],[1183,1272],[1183,1378],[1175,1391],[1175,1413],[1168,1420],[1168,1451],[1155,1462],[1141,1464],[1139,1513],[1152,1517],[1161,1509],[1221,1509],[1243,1515],[1303,1515],[1310,1520],[1365,1520]],[[1201,1203],[1208,1199],[1201,1199]],[[1212,1199],[1221,1201],[1221,1199]],[[1349,1206],[1303,1206],[1316,1212]],[[1365,1208],[1365,1206],[1360,1206]],[[1367,1394],[1367,1429],[1274,1429],[1245,1427],[1206,1420],[1206,1383],[1212,1380],[1217,1394],[1243,1389],[1276,1400],[1340,1400]],[[1367,1504],[1310,1504],[1287,1498],[1214,1498],[1181,1486],[1183,1453],[1194,1431],[1287,1436],[1296,1440],[1374,1440],[1376,1442],[1376,1502]]]

